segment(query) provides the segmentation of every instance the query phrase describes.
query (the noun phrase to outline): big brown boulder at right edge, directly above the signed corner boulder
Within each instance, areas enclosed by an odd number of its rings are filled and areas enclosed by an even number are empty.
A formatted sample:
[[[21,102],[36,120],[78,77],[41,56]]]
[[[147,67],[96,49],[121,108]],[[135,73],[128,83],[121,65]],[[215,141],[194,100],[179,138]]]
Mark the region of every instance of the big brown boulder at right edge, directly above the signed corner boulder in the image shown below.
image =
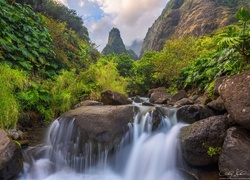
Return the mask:
[[[219,93],[230,117],[250,129],[250,71],[224,81]]]

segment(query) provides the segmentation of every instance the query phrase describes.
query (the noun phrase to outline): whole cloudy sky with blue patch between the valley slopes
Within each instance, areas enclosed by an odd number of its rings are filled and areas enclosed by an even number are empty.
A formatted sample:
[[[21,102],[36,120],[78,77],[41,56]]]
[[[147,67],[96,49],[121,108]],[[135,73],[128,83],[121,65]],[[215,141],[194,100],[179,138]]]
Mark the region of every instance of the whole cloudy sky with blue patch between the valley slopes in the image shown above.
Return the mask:
[[[115,27],[120,30],[126,46],[143,40],[148,28],[160,16],[169,0],[56,0],[76,10],[88,28],[91,42],[99,51],[108,42]]]

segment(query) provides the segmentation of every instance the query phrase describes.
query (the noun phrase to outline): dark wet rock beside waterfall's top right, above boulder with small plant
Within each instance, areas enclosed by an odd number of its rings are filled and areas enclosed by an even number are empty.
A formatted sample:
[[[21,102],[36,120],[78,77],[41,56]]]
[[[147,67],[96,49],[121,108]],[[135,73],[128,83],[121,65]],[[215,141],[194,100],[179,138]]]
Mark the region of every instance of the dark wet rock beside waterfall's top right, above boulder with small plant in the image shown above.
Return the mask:
[[[186,105],[177,110],[177,119],[180,122],[194,123],[201,119],[213,116],[214,113],[211,109],[204,105]]]

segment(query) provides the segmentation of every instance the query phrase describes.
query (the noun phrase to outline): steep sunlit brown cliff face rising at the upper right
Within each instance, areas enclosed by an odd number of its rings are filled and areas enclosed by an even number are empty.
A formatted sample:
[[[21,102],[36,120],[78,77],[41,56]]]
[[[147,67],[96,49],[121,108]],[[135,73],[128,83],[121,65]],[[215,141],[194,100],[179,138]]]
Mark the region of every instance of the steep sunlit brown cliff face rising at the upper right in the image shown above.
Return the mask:
[[[202,36],[236,21],[240,7],[249,0],[170,0],[160,17],[149,28],[142,44],[146,51],[160,51],[167,39]]]

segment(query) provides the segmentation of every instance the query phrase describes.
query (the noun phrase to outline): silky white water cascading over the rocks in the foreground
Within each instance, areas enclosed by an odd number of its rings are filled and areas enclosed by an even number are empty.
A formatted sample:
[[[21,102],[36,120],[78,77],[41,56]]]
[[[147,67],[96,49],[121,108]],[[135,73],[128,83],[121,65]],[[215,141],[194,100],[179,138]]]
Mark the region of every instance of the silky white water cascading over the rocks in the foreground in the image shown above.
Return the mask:
[[[44,146],[24,152],[25,168],[20,180],[184,180],[177,170],[178,134],[175,110],[137,107],[134,123],[115,149],[99,147],[92,154],[92,144],[81,145],[79,129],[71,121],[55,120]],[[153,125],[153,111],[160,111],[161,121]]]

